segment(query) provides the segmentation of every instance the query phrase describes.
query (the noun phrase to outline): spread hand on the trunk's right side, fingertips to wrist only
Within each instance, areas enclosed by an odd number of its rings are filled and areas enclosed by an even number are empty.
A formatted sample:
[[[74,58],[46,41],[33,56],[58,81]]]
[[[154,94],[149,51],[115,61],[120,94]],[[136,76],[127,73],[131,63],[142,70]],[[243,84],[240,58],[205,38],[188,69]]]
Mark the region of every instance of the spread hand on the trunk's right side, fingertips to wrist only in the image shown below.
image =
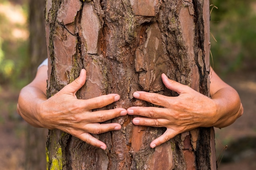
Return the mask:
[[[153,140],[151,148],[168,141],[176,135],[198,127],[210,127],[214,121],[216,104],[209,97],[198,93],[189,86],[168,79],[162,74],[164,85],[179,94],[177,97],[168,97],[156,93],[136,91],[133,96],[150,102],[158,107],[130,107],[127,109],[128,115],[140,115],[132,122],[140,126],[166,127],[163,135]]]

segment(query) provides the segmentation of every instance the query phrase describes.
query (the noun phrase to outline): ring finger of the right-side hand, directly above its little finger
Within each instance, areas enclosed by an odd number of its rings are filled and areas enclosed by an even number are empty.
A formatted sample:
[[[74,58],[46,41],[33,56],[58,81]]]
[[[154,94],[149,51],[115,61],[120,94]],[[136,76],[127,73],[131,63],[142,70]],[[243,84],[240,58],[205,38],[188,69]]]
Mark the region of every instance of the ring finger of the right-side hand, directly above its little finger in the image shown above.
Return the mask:
[[[166,127],[170,124],[167,119],[150,119],[147,117],[136,117],[132,119],[132,123],[139,126]]]

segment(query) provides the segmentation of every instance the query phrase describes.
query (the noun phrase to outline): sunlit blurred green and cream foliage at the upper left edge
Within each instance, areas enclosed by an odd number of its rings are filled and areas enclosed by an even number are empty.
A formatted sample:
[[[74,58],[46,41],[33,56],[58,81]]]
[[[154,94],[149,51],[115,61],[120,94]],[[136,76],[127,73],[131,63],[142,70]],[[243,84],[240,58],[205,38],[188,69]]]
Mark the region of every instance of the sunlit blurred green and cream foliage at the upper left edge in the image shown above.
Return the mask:
[[[0,86],[28,82],[27,4],[0,0]]]

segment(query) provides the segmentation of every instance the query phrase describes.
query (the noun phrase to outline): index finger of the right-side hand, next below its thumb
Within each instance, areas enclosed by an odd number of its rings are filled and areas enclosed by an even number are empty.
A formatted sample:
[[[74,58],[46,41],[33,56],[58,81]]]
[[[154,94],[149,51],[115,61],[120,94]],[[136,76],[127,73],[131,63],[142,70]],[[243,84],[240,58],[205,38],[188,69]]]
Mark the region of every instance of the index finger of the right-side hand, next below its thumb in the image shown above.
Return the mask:
[[[169,106],[172,99],[172,97],[159,95],[157,93],[148,93],[145,91],[136,91],[133,93],[133,97],[164,107]]]

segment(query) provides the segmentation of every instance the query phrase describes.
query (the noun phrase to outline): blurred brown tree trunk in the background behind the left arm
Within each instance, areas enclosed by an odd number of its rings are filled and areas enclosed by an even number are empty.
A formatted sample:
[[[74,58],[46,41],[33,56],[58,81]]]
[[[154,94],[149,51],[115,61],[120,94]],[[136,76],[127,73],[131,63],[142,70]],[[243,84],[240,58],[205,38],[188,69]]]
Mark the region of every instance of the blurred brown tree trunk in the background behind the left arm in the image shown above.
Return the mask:
[[[29,0],[29,63],[31,79],[35,77],[38,65],[47,57],[45,39],[45,0]],[[45,141],[48,130],[27,126],[25,170],[45,170]]]

